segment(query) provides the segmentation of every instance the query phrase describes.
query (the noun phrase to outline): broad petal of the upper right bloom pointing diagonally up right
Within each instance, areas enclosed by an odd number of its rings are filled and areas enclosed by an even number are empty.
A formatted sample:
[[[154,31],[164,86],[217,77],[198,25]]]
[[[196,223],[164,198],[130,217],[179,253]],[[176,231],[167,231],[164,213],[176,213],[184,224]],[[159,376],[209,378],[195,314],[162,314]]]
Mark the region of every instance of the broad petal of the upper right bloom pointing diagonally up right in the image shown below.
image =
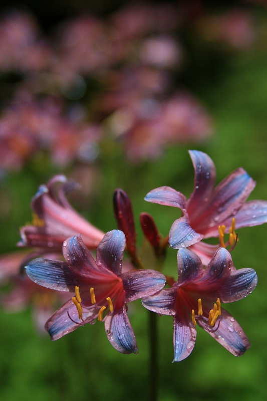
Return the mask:
[[[190,220],[190,224],[198,233],[210,237],[213,228],[234,217],[254,186],[255,181],[243,168],[238,168],[217,185],[201,216]]]

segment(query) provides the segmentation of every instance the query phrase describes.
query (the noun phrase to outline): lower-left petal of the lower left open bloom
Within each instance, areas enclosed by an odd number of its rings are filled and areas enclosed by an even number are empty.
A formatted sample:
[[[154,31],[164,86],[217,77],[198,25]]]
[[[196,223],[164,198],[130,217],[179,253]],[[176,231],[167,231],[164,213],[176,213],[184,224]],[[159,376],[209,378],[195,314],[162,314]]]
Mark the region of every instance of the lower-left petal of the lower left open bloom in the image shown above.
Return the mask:
[[[95,320],[98,316],[99,309],[97,308],[90,308],[90,310],[83,309],[83,320],[85,323],[89,323]],[[69,316],[74,320],[72,321]],[[72,331],[76,330],[80,327],[80,324],[83,323],[79,317],[77,308],[72,302],[72,299],[67,301],[61,308],[59,308],[46,322],[45,329],[49,332],[51,339],[58,340],[59,338],[63,337],[66,334],[71,333]]]

